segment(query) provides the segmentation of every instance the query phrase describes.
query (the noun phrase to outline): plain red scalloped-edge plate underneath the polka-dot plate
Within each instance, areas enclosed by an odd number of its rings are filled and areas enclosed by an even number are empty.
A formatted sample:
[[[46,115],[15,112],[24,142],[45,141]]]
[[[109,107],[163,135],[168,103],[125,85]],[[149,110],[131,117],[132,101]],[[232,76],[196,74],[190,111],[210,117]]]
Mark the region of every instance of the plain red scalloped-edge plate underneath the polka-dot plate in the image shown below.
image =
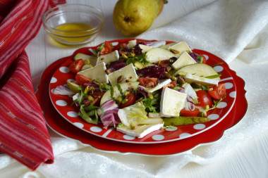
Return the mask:
[[[209,53],[207,53],[209,54]],[[210,54],[211,55],[211,54]],[[49,95],[49,84],[52,75],[59,68],[59,66],[67,58],[61,58],[59,61],[51,64],[43,73],[41,84],[37,91],[37,100],[44,111],[44,117],[47,125],[54,129],[62,136],[66,136],[71,139],[81,141],[83,144],[89,144],[90,146],[102,151],[116,151],[120,153],[140,153],[146,155],[170,155],[175,153],[181,153],[187,151],[199,144],[207,144],[212,141],[220,139],[226,129],[229,129],[233,125],[236,125],[243,116],[248,107],[248,103],[245,99],[245,82],[236,75],[236,72],[230,70],[234,82],[236,83],[236,102],[229,112],[229,114],[214,127],[208,129],[206,132],[202,132],[195,136],[191,136],[187,139],[181,139],[178,141],[171,141],[160,144],[128,144],[124,142],[112,141],[104,139],[99,136],[84,132],[82,129],[75,127],[56,111],[51,104]]]

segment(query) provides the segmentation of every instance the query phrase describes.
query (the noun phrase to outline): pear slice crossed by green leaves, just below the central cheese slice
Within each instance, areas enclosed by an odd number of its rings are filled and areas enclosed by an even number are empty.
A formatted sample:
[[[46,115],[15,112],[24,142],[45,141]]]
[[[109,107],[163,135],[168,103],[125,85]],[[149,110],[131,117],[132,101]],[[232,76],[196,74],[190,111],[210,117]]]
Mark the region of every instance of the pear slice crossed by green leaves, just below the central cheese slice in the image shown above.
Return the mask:
[[[120,84],[120,87],[123,91],[123,93],[129,89],[137,89],[140,82],[126,82]],[[114,98],[118,98],[118,96],[121,96],[120,91],[117,87],[114,87]],[[102,100],[100,101],[100,104],[102,105],[105,101],[111,100],[111,90],[107,90],[105,94],[102,96]]]

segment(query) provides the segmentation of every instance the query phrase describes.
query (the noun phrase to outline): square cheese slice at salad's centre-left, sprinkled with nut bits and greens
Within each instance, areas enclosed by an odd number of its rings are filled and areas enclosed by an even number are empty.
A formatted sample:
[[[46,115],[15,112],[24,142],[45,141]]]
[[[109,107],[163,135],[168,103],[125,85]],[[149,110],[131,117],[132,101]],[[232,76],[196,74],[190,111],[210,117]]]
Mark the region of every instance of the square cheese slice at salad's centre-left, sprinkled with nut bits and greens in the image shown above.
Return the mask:
[[[128,82],[136,82],[138,80],[138,75],[136,73],[134,65],[133,63],[130,63],[126,65],[126,67],[116,70],[108,75],[109,81],[111,82],[111,87],[116,86],[117,79],[121,75],[123,76],[122,82],[126,82],[126,80],[128,80]]]

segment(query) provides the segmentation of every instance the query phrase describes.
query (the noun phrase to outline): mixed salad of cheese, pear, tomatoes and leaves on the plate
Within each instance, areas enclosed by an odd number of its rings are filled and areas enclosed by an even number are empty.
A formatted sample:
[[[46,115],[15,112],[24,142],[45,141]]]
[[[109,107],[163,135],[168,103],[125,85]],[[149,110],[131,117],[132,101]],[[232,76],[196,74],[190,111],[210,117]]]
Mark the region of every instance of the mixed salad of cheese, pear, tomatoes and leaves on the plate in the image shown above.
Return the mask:
[[[133,39],[120,48],[104,42],[93,55],[77,53],[75,80],[56,87],[69,95],[85,122],[142,138],[177,125],[209,122],[207,111],[226,96],[221,74],[185,42]]]

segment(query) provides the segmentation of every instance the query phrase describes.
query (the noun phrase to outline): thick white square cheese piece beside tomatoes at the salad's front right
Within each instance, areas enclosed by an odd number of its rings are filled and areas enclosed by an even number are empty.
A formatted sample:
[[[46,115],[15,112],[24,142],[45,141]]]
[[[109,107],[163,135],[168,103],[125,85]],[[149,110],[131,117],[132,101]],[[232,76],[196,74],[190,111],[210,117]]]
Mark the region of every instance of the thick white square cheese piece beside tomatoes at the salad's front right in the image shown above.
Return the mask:
[[[179,116],[185,107],[187,94],[183,94],[169,87],[164,88],[160,101],[160,114],[164,117]]]

